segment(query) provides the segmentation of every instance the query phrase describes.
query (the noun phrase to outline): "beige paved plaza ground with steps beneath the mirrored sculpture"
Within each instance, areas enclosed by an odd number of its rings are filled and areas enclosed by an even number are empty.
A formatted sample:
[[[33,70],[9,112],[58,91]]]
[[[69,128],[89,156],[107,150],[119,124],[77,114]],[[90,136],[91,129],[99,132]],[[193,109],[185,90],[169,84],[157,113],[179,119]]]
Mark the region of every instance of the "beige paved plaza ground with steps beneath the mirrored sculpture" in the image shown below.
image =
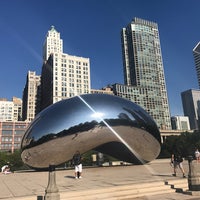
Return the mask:
[[[187,174],[187,161],[184,168]],[[200,196],[176,192],[188,190],[187,178],[182,178],[181,173],[173,177],[172,172],[169,159],[157,159],[145,165],[83,168],[83,178],[78,180],[74,179],[73,169],[59,169],[56,184],[60,200],[200,199]],[[48,172],[0,174],[0,200],[42,200],[47,184]]]

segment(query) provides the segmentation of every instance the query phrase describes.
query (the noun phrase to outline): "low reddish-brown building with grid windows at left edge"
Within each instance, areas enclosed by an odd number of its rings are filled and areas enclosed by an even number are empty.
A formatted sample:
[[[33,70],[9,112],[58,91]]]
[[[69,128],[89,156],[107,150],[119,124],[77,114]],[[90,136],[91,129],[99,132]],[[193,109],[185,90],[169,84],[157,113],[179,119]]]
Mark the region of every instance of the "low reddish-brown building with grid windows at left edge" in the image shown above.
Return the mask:
[[[28,122],[2,122],[0,121],[0,151],[20,149],[21,140],[28,127]]]

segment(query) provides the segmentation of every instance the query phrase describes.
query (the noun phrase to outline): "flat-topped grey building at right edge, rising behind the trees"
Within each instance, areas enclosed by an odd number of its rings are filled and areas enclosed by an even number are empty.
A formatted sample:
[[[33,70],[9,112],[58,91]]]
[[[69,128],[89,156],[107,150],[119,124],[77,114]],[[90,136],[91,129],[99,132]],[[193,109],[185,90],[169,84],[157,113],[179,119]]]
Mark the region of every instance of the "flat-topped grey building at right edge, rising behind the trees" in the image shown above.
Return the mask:
[[[189,89],[181,93],[183,112],[189,117],[190,128],[200,130],[200,90]]]

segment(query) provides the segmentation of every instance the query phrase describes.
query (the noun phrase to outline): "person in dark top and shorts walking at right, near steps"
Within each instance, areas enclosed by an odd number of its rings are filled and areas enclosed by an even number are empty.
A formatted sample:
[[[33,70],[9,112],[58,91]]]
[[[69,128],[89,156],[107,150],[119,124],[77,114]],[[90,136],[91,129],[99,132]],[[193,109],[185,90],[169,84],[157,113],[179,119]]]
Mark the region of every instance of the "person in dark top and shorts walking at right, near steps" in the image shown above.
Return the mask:
[[[172,154],[171,163],[173,163],[173,168],[174,168],[174,174],[172,174],[172,175],[176,176],[177,168],[179,167],[179,169],[181,170],[181,172],[183,174],[183,178],[186,178],[185,170],[183,168],[183,158],[179,153]]]

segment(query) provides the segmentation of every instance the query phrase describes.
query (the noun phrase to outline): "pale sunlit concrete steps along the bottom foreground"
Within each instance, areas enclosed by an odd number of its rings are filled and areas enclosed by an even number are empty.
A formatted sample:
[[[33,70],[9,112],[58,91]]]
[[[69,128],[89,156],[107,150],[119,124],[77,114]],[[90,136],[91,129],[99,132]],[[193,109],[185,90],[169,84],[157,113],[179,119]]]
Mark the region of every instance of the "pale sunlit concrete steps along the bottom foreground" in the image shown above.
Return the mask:
[[[79,192],[65,192],[60,193],[61,200],[76,199],[76,200],[94,200],[94,199],[130,199],[141,196],[157,195],[172,193],[174,190],[170,186],[165,185],[163,181],[142,183],[142,184],[131,184],[107,188],[93,189],[90,191],[79,191]]]

